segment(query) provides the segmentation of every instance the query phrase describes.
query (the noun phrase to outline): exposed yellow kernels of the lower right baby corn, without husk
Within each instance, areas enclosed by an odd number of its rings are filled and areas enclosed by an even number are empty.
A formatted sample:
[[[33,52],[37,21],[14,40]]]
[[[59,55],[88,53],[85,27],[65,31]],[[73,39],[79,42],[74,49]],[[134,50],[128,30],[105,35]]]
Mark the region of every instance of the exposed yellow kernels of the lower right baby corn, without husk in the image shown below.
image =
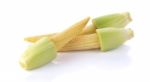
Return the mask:
[[[59,51],[73,51],[73,50],[89,50],[100,48],[98,37],[96,33],[80,35],[67,43]]]

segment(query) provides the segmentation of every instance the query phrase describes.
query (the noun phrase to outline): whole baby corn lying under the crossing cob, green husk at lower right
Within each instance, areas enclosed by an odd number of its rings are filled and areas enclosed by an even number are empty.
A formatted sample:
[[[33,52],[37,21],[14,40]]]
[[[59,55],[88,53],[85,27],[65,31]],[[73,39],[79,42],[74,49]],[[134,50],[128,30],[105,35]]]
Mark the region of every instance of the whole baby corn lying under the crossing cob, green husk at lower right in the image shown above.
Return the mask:
[[[107,51],[120,46],[122,43],[131,39],[132,37],[133,31],[130,28],[97,29],[97,33],[80,35],[76,37],[59,51],[75,51],[99,48],[101,48],[102,51]]]

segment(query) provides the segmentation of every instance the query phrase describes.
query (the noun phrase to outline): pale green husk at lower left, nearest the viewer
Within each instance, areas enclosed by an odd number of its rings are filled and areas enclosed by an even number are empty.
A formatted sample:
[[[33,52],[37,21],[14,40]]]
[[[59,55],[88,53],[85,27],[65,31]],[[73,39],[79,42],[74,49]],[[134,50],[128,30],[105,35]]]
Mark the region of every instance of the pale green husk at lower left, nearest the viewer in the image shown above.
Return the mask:
[[[43,37],[27,48],[20,59],[20,65],[27,70],[40,67],[56,57],[56,48],[49,38]]]

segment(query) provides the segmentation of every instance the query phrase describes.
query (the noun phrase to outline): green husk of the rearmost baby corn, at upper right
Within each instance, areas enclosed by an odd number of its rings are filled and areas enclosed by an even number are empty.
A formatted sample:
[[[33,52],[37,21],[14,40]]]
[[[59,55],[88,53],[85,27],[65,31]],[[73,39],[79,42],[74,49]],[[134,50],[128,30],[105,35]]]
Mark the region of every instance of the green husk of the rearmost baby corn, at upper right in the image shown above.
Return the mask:
[[[124,28],[131,21],[129,12],[100,16],[92,20],[96,28]]]

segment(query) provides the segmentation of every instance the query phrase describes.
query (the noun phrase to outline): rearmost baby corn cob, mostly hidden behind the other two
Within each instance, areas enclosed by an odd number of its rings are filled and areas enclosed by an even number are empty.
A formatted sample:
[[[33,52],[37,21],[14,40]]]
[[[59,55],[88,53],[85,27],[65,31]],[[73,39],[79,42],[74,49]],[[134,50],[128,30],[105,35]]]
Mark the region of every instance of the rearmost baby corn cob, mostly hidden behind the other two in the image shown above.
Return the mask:
[[[83,29],[80,35],[95,33],[96,28],[107,28],[107,27],[123,28],[129,22],[131,22],[131,17],[128,12],[96,17],[92,20],[93,24],[90,24],[87,27],[85,27],[85,29]],[[46,35],[31,36],[31,37],[26,37],[24,40],[34,43],[37,40],[39,40],[41,37],[45,37],[45,36],[52,37],[54,34],[52,33]]]

